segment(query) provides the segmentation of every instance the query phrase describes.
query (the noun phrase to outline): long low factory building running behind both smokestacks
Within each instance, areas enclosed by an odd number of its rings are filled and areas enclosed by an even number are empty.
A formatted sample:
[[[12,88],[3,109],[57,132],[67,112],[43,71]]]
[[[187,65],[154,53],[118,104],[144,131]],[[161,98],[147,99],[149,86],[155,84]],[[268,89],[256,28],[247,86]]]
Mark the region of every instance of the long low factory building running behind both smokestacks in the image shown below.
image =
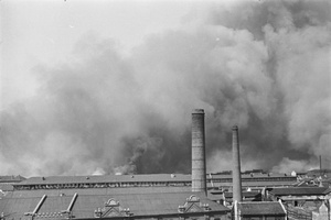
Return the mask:
[[[206,174],[209,191],[217,193],[232,190],[232,174]],[[42,182],[41,182],[42,180]],[[285,174],[242,174],[243,190],[274,187],[290,187],[297,178]],[[110,175],[110,176],[52,176],[31,177],[21,183],[8,186],[15,190],[52,189],[52,188],[116,188],[116,187],[148,187],[148,186],[192,186],[191,175],[183,174],[151,174],[151,175]],[[0,187],[1,189],[1,187]],[[12,190],[11,189],[11,190]]]

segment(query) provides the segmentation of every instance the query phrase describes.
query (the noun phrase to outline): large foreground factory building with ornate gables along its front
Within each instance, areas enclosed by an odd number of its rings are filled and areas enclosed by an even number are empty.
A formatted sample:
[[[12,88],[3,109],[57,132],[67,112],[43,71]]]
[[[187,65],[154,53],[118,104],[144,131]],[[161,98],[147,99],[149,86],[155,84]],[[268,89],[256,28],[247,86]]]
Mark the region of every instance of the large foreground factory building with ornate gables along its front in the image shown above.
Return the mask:
[[[36,193],[36,194],[34,194]],[[203,193],[100,189],[18,191],[0,201],[3,219],[227,219]]]

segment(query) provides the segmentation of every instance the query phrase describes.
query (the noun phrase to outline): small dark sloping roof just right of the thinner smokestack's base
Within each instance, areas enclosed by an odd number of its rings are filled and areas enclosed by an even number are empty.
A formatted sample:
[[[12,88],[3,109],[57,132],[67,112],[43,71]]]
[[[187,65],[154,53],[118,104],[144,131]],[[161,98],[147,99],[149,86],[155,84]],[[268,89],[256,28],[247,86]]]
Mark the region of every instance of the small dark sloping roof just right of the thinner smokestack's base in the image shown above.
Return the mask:
[[[285,216],[286,212],[277,201],[238,202],[241,216]]]

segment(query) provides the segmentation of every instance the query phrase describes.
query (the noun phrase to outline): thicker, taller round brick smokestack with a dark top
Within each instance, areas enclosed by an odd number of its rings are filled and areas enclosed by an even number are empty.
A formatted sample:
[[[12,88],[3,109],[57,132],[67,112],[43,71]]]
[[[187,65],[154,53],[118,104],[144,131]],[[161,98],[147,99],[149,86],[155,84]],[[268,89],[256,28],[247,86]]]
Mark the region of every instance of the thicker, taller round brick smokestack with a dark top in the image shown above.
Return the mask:
[[[192,191],[206,194],[204,110],[192,112]]]

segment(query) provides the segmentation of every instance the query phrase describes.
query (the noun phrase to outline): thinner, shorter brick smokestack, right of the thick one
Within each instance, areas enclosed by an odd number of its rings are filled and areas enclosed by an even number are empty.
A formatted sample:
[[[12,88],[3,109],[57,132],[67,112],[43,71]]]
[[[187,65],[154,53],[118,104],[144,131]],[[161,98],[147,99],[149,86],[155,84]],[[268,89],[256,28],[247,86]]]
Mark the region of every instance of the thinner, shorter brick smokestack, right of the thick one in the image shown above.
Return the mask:
[[[238,127],[232,128],[232,182],[233,182],[233,202],[242,201],[242,173],[241,173],[241,152]]]

